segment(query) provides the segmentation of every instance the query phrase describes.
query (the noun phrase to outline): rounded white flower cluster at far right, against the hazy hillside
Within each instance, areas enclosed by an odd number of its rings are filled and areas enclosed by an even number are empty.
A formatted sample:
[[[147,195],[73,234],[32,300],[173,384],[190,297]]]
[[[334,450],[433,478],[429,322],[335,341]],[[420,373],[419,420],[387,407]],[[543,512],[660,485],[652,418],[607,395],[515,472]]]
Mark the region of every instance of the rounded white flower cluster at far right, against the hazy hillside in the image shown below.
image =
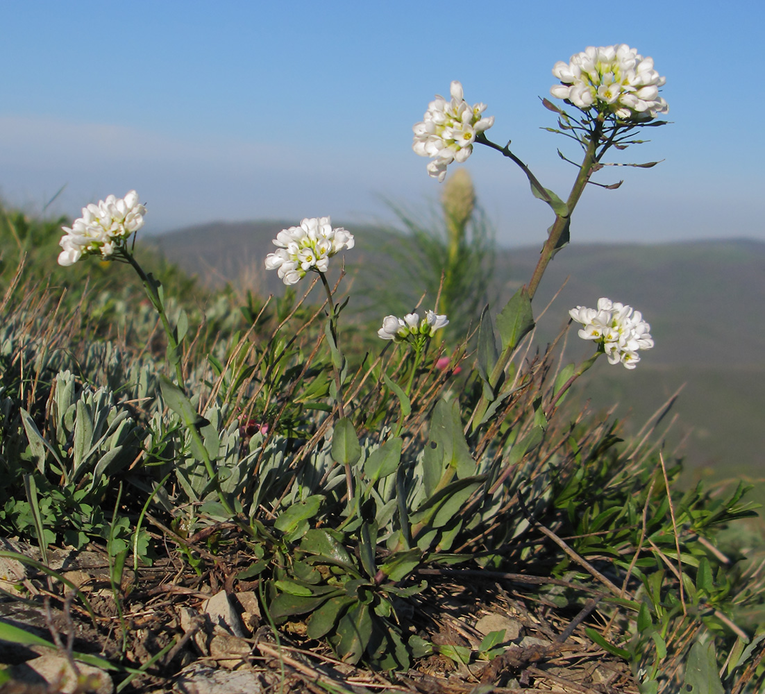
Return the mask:
[[[634,369],[640,361],[638,350],[649,350],[653,339],[651,326],[643,321],[640,311],[631,306],[619,304],[609,298],[597,300],[597,308],[577,306],[568,311],[577,323],[584,327],[579,331],[583,340],[594,340],[602,347],[609,363],[623,363],[627,369]]]

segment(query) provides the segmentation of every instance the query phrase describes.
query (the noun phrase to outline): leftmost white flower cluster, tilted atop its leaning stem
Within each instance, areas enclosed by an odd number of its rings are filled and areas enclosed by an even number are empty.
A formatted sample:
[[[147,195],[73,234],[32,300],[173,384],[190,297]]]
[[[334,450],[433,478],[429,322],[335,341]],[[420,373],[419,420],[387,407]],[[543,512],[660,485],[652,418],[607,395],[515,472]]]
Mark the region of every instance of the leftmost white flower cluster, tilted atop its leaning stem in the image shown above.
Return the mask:
[[[74,220],[72,228],[61,227],[66,234],[59,246],[63,248],[58,264],[74,265],[84,256],[109,258],[125,239],[144,224],[146,208],[138,202],[138,193],[130,191],[125,197],[109,195],[98,204],[83,207],[83,216]]]

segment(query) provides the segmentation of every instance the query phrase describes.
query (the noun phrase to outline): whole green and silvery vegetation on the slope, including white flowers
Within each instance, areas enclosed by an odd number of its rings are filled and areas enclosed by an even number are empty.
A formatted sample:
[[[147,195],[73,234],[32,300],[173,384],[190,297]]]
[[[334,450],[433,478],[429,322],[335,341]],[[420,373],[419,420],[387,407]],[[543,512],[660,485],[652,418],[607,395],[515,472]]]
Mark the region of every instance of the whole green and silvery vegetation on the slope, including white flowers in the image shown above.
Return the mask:
[[[203,649],[182,626],[203,588],[252,592],[258,641],[239,635],[249,648],[239,660],[277,657],[285,684],[289,670],[344,690],[360,672],[331,679],[301,660],[314,653],[324,665],[387,673],[403,690],[428,671],[445,686],[456,670],[487,686],[575,675],[590,685],[597,675],[610,691],[757,691],[765,632],[747,614],[762,604],[763,578],[719,542],[720,529],[753,514],[744,487],[679,491],[678,461],[649,436],[622,441],[613,423],[567,409],[569,389],[596,363],[635,367],[653,347],[649,325],[601,298],[569,311],[591,341],[589,359],[565,364],[560,340],[533,346],[532,300],[584,188],[606,152],[639,142],[636,130],[660,125],[666,109],[653,90],[663,78],[647,64],[636,75],[635,51],[597,51],[598,70],[620,67],[623,92],[601,75],[607,93],[589,98],[577,81],[584,73],[556,66],[564,84],[553,95],[579,113],[545,100],[556,130],[584,152],[566,200],[509,145],[487,139],[493,118],[467,105],[459,83],[415,126],[415,151],[433,159],[434,178],[485,145],[519,166],[555,216],[535,272],[496,318],[486,309],[451,318],[469,288],[464,268],[486,256],[466,241],[474,208],[464,180],[443,200],[445,244],[421,244],[433,259],[425,288],[438,282],[434,310],[390,314],[382,328],[348,320],[342,276],[327,279],[330,259],[355,243],[327,217],[278,235],[266,266],[286,285],[312,279],[304,295],[282,300],[250,295],[236,305],[230,292],[145,269],[132,246],[146,213],[135,191],[83,210],[66,227],[60,262],[76,264],[70,278],[89,264],[101,273],[94,284],[124,285],[135,273],[137,285],[83,288],[75,299],[44,280],[59,275],[25,275],[23,253],[18,272],[4,268],[0,529],[35,543],[41,561],[0,554],[44,572],[49,598],[67,610],[77,604],[104,632],[119,631],[112,657],[90,662],[112,669],[120,691],[171,676],[194,657],[192,644]],[[22,251],[30,239],[33,253],[58,221],[8,214],[4,233]],[[438,262],[428,256],[436,246],[447,251]],[[320,282],[324,298],[311,305]],[[456,334],[444,360],[448,330]],[[375,332],[385,341],[369,351],[356,336]],[[57,546],[106,558],[113,619],[99,621],[88,596],[50,569]],[[138,613],[172,576],[177,601],[151,617],[151,639],[139,637]],[[448,606],[462,596],[472,601],[454,617]],[[479,632],[480,610],[493,604],[544,638]],[[67,655],[88,658],[71,644]]]

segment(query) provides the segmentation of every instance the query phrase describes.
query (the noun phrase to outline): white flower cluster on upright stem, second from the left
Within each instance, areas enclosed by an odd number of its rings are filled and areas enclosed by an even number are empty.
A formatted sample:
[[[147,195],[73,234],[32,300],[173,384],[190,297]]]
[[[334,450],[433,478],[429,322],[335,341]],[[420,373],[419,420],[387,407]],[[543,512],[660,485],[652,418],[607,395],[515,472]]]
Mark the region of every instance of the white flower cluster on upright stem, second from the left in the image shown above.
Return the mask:
[[[285,285],[294,285],[309,270],[327,272],[329,259],[354,243],[353,234],[341,227],[333,229],[329,217],[311,217],[276,235],[274,246],[279,249],[266,256],[265,267],[278,270]]]

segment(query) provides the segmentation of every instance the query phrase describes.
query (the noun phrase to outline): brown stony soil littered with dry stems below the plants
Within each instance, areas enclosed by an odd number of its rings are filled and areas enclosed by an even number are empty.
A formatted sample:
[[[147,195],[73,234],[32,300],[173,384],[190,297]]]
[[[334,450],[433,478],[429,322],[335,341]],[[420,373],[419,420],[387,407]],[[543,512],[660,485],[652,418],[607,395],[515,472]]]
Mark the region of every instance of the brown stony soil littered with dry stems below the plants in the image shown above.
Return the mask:
[[[13,540],[0,543],[6,552],[39,559],[39,551],[32,546]],[[475,660],[474,655],[468,663],[434,654],[415,661],[406,673],[379,673],[337,660],[326,643],[305,635],[301,621],[288,622],[275,634],[259,617],[257,604],[253,607],[258,582],[236,578],[256,558],[249,556],[246,544],[233,532],[226,553],[206,559],[206,568],[197,573],[177,552],[169,552],[151,567],[139,566],[135,573],[132,565],[126,567],[118,588],[109,581],[109,562],[99,546],[89,546],[85,552],[54,550],[49,565],[79,586],[92,615],[81,598],[71,591],[67,594],[66,586],[56,580],[49,583],[34,565],[13,565],[4,559],[11,564],[2,568],[8,580],[0,581],[5,594],[0,621],[47,640],[59,637],[63,650],[71,634],[73,651],[141,669],[141,674],[123,685],[125,694],[197,691],[179,683],[190,666],[198,669],[200,665],[207,668],[208,677],[222,668],[250,670],[256,673],[262,692],[638,691],[627,663],[585,634],[586,627],[595,627],[607,640],[618,636],[617,625],[610,625],[609,632],[607,617],[599,611],[601,595],[576,592],[565,581],[555,586],[548,583],[549,578],[480,569],[423,570],[428,588],[400,611],[408,630],[438,650],[467,647],[475,654],[483,639],[480,627],[486,632],[487,624],[504,625],[508,640],[503,652],[493,660]],[[239,624],[237,629],[243,629],[238,636],[210,623],[207,601],[223,592],[238,613],[232,617]],[[26,657],[36,656],[30,651]],[[0,662],[18,663],[24,657],[24,647],[0,641]],[[116,684],[128,676],[125,669],[110,674]],[[12,686],[0,686],[0,694],[33,691]],[[216,690],[210,685],[209,691]]]

